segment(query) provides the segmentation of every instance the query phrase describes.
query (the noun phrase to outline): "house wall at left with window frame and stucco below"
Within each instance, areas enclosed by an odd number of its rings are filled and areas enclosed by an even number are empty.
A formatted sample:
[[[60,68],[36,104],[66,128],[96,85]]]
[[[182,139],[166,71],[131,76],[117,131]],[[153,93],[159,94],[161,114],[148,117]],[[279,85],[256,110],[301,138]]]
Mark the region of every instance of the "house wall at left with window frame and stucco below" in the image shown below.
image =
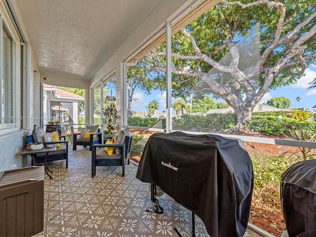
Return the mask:
[[[13,117],[15,124],[0,124],[0,172],[31,165],[30,156],[22,157],[20,153],[26,141],[25,136],[31,134],[34,117],[34,71],[38,71],[35,57],[29,44],[21,43],[11,13],[5,2],[0,3],[2,24],[9,32],[13,49]],[[23,65],[22,65],[23,64]],[[23,68],[23,70],[22,70]],[[9,125],[9,126],[7,126]],[[13,125],[13,126],[12,126]]]

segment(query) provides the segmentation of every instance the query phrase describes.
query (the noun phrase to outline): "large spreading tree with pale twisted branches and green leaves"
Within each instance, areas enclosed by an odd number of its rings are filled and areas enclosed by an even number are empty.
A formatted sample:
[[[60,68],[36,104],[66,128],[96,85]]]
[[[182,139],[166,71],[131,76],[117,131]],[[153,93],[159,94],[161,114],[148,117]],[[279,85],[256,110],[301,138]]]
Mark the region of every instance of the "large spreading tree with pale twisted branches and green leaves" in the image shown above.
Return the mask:
[[[295,83],[315,63],[315,34],[314,0],[221,0],[172,37],[175,95],[223,98],[237,114],[234,131],[244,131],[269,89]],[[162,44],[146,61],[165,71],[164,57]]]

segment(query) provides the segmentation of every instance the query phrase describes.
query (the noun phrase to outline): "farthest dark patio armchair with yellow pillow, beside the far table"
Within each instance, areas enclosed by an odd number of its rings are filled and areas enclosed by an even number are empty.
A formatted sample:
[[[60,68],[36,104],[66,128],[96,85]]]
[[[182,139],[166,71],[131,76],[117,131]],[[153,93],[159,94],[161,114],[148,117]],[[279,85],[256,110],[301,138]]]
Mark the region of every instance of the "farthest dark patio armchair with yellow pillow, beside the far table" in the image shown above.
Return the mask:
[[[89,131],[89,132],[88,132]],[[102,133],[99,125],[86,126],[79,133],[73,133],[73,150],[77,150],[77,146],[90,147],[92,150],[93,144],[102,144]]]

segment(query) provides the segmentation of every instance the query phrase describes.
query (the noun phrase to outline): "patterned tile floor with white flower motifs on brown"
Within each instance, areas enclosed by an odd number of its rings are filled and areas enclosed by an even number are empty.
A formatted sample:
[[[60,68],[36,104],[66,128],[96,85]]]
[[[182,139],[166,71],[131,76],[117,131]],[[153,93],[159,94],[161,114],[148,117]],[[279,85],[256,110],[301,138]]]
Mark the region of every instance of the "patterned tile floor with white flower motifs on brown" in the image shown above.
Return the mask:
[[[137,166],[97,167],[91,178],[91,152],[88,148],[69,149],[65,161],[48,163],[53,179],[45,175],[44,231],[35,237],[182,237],[191,236],[191,212],[171,197],[158,197],[163,214],[152,209],[149,185],[136,179]],[[196,216],[196,236],[209,237]],[[245,237],[259,237],[247,229]]]

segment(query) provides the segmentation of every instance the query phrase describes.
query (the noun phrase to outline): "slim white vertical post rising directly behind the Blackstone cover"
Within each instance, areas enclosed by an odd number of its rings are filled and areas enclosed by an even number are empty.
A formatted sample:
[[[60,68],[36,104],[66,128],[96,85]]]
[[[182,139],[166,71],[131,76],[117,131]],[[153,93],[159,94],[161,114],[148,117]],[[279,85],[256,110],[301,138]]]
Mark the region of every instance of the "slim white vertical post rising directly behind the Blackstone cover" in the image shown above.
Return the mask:
[[[172,130],[171,90],[171,24],[166,22],[166,133],[170,133]]]

